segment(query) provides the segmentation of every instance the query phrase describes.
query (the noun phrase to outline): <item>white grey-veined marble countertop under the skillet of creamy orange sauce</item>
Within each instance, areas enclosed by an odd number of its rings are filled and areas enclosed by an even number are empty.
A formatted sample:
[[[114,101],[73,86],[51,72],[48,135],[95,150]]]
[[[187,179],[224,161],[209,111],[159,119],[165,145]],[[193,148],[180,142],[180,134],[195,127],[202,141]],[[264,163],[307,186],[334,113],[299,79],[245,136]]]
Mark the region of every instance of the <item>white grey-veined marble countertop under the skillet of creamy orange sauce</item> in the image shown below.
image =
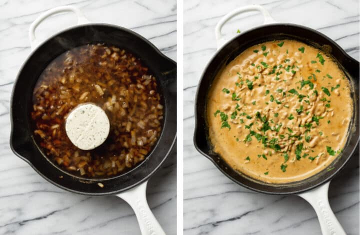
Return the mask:
[[[192,142],[194,96],[199,77],[215,53],[214,27],[232,9],[262,4],[278,22],[306,25],[334,39],[359,59],[357,0],[184,1],[184,234],[320,234],[314,210],[296,196],[271,196],[245,189],[198,153]],[[231,20],[227,38],[262,23],[255,12]],[[241,19],[239,19],[241,18]],[[330,184],[332,209],[347,234],[359,234],[358,151]]]

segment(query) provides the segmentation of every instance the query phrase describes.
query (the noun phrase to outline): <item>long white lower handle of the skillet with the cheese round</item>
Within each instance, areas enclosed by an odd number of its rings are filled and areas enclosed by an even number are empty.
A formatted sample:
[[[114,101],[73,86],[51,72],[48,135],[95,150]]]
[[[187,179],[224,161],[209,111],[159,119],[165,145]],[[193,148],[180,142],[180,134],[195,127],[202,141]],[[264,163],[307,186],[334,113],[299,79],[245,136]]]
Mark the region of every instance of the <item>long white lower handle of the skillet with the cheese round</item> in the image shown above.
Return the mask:
[[[116,196],[125,200],[132,207],[142,235],[165,235],[147,204],[146,185],[147,181]]]

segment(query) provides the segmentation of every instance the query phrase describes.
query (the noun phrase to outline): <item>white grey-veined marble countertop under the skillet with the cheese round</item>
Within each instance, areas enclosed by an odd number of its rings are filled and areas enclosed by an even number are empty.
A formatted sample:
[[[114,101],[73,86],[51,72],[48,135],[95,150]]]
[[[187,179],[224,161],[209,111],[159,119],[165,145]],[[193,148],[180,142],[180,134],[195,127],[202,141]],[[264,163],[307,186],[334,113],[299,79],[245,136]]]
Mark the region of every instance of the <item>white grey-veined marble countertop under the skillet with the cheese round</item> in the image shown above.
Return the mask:
[[[66,192],[38,175],[9,147],[9,101],[16,74],[30,53],[29,24],[55,6],[78,6],[91,22],[130,28],[176,59],[176,0],[0,0],[0,234],[139,234],[130,206],[115,196]],[[36,30],[46,38],[73,25],[71,13]],[[167,234],[176,234],[176,154],[149,181],[147,199]]]

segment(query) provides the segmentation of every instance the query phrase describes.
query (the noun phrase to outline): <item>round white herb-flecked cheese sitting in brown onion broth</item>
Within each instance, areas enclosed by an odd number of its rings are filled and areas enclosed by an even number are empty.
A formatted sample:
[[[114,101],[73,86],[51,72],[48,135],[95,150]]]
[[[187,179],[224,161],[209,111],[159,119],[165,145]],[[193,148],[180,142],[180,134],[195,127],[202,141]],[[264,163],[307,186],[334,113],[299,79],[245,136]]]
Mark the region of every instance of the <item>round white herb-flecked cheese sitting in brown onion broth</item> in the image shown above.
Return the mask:
[[[80,104],[65,121],[67,137],[78,148],[90,150],[105,141],[110,123],[104,110],[92,103]]]

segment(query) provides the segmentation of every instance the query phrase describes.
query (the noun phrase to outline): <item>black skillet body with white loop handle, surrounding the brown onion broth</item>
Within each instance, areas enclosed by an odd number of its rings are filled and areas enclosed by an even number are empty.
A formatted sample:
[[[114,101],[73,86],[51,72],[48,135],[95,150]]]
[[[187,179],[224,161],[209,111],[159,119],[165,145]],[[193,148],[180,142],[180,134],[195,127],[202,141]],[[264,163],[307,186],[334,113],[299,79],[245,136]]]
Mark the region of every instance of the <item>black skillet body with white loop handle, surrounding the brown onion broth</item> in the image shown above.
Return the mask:
[[[30,26],[31,41],[34,39],[33,31],[37,24],[45,17],[61,11],[73,11],[77,14],[80,23],[86,22],[77,8],[62,6],[51,9]],[[72,175],[48,160],[35,144],[30,123],[32,91],[40,73],[59,54],[88,43],[114,45],[139,57],[155,75],[164,104],[162,132],[153,150],[145,160],[130,171],[104,179],[86,179]],[[12,151],[52,184],[86,195],[117,194],[143,182],[145,182],[143,187],[146,188],[146,181],[161,166],[175,144],[176,63],[163,55],[147,39],[129,29],[98,23],[77,25],[48,38],[31,52],[14,83],[10,118]],[[98,182],[104,187],[101,188]]]

